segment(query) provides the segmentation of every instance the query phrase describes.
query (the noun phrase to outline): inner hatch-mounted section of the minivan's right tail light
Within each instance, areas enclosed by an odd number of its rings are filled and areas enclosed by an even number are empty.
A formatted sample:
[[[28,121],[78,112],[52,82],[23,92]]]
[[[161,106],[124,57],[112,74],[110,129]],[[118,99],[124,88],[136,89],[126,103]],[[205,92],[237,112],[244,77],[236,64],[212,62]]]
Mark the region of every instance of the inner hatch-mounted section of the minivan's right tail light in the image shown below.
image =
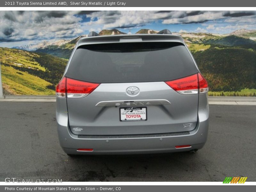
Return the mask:
[[[198,93],[198,77],[197,74],[188,77],[165,82],[172,89],[181,94],[196,94]]]

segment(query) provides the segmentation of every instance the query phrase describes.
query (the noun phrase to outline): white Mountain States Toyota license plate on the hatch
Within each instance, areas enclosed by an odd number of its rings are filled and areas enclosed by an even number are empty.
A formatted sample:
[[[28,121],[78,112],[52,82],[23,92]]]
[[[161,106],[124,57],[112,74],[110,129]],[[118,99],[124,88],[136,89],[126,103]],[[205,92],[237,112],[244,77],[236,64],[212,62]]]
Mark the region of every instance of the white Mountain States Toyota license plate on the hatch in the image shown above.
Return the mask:
[[[120,121],[146,121],[146,107],[126,107],[120,108]]]

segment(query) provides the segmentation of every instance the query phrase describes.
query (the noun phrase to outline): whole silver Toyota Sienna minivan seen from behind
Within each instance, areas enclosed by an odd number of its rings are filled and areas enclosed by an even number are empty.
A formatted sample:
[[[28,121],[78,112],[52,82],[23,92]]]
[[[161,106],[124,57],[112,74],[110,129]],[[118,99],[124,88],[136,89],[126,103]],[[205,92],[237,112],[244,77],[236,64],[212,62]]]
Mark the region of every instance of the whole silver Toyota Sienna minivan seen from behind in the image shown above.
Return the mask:
[[[81,38],[56,87],[68,154],[196,151],[208,133],[208,84],[179,35]]]

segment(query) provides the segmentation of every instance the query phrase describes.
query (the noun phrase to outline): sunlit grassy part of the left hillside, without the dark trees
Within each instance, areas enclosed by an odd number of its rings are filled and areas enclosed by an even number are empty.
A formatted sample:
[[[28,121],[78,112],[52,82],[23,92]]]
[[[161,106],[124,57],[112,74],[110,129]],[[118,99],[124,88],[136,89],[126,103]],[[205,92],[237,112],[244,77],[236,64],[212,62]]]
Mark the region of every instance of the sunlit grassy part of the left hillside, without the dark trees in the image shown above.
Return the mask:
[[[48,58],[52,60],[52,56],[47,57],[47,55],[41,55],[40,53],[0,47],[0,60],[4,94],[54,94],[54,90],[48,88],[49,86],[53,86],[50,82],[45,81],[44,79],[36,76],[35,74],[31,74],[31,72],[36,72],[38,74],[47,73],[47,68],[40,65],[36,61],[41,57],[44,58],[44,60],[47,60]],[[56,60],[60,60],[61,62],[66,63],[66,61],[59,58],[56,58]]]

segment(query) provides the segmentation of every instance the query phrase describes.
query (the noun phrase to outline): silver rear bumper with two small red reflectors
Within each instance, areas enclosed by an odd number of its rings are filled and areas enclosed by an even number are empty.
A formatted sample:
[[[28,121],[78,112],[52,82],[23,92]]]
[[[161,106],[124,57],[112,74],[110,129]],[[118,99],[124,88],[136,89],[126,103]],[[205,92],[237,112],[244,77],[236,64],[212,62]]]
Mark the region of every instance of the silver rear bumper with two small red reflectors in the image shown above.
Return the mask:
[[[56,112],[60,146],[67,154],[145,154],[169,153],[200,149],[204,146],[209,127],[209,108],[198,110],[198,123],[190,132],[127,136],[81,137],[68,127],[68,114]],[[189,148],[175,148],[191,145]],[[93,151],[77,151],[78,148],[92,148]]]

